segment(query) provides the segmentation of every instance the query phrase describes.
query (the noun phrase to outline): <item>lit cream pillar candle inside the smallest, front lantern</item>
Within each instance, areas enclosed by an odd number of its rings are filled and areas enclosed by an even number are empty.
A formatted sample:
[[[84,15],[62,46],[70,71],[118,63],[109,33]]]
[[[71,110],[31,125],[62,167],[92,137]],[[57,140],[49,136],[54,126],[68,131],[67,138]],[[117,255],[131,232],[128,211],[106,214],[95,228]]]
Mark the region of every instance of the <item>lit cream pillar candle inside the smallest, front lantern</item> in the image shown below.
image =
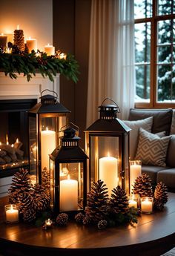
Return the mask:
[[[68,175],[69,177],[69,175]],[[78,209],[78,181],[60,181],[60,211],[73,211]]]

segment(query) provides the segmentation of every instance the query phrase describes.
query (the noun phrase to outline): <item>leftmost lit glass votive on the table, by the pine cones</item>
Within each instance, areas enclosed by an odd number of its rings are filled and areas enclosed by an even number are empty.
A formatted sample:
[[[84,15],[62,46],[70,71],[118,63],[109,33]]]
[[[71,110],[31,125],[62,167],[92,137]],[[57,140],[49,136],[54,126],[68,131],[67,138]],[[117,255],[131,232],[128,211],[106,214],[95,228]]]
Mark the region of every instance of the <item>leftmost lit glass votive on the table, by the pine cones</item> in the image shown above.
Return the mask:
[[[9,204],[4,206],[5,221],[7,223],[19,222],[19,207],[15,204]]]

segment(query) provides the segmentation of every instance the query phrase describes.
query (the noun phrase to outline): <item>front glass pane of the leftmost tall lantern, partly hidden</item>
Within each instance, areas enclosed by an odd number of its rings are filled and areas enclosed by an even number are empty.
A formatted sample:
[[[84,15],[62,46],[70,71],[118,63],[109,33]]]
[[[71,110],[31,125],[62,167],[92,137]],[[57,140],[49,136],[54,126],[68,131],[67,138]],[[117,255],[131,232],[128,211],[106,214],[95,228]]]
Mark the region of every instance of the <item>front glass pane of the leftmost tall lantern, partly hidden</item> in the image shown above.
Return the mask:
[[[41,115],[41,160],[42,170],[49,167],[49,154],[60,145],[59,138],[62,132],[59,132],[62,126],[66,125],[66,116],[59,114]]]

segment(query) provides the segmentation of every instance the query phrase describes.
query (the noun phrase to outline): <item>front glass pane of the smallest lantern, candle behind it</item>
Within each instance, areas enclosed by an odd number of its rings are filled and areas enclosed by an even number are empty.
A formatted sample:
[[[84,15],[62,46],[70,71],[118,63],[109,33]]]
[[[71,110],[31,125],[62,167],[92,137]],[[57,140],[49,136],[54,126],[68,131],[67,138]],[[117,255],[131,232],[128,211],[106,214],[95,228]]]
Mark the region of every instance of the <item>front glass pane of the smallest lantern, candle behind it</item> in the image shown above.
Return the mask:
[[[83,163],[60,163],[60,211],[83,208]]]

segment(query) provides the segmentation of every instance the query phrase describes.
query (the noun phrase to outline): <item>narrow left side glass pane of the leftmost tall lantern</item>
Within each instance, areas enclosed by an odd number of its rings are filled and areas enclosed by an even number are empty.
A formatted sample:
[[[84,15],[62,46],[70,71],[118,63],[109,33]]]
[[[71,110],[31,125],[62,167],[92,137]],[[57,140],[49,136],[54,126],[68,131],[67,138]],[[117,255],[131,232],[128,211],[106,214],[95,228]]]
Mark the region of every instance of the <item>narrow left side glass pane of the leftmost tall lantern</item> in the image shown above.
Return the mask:
[[[36,138],[36,116],[29,117],[29,157],[30,157],[30,178],[36,183],[38,145]]]

